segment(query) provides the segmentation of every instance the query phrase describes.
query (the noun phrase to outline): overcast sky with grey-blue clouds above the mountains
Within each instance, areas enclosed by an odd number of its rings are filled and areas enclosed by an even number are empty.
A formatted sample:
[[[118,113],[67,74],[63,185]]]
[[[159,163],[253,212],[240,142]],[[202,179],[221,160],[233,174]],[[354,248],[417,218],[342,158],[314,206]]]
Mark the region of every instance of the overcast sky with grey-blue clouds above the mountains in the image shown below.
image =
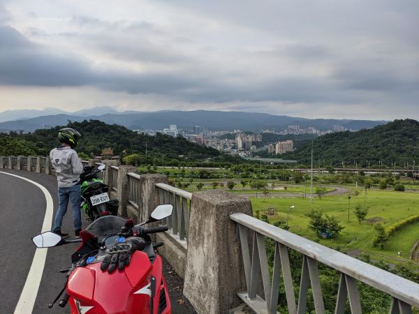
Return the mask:
[[[0,0],[0,111],[419,119],[417,0]]]

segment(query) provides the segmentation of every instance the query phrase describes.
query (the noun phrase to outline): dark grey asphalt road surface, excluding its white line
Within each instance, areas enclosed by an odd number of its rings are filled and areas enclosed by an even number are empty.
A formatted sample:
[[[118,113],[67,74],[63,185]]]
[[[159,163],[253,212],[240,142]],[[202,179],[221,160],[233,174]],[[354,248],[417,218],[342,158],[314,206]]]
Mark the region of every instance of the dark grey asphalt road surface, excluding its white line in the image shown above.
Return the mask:
[[[57,179],[53,176],[17,170],[1,169],[0,172],[16,174],[41,184],[52,195],[54,202],[54,215],[58,207]],[[11,177],[0,173],[0,239],[2,244],[0,254],[0,313],[8,314],[15,311],[20,294],[27,279],[31,262],[34,258],[35,247],[31,237],[39,234],[42,229],[45,216],[45,195],[34,184],[17,177]],[[83,228],[87,221],[82,218]],[[67,211],[62,227],[63,232],[73,234],[73,217],[71,210]],[[71,254],[78,244],[68,244],[49,248],[41,285],[36,296],[34,309],[27,313],[69,313],[70,308],[54,306],[52,310],[47,308],[65,283],[65,274],[60,274],[59,269],[71,264]],[[166,267],[168,268],[168,267]],[[167,273],[167,269],[164,269]],[[183,285],[181,278],[170,274],[173,285],[169,286],[172,299],[173,313],[194,313],[193,308],[185,297],[179,285]],[[182,300],[182,301],[179,301]],[[179,303],[178,303],[178,302]]]

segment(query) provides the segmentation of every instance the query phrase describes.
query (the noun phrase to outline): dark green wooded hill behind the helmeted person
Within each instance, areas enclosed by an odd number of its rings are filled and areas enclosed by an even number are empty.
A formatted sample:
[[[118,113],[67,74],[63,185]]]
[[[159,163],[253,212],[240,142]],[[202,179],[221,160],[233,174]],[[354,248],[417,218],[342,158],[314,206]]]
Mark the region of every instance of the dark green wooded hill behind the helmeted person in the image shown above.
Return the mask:
[[[156,136],[137,134],[124,126],[105,124],[98,120],[73,122],[67,126],[75,128],[82,134],[76,149],[82,156],[84,156],[83,154],[99,156],[105,148],[111,148],[115,155],[142,154],[145,156],[147,145],[147,163],[150,164],[160,164],[163,157],[166,160],[166,165],[177,164],[174,160],[185,163],[192,160],[208,163],[208,158],[216,158],[219,162],[239,161],[233,156],[194,144],[180,136],[170,137],[160,133]],[[29,134],[0,133],[0,155],[46,156],[53,147],[57,147],[59,144],[57,141],[59,128],[63,128],[63,126],[40,129]]]

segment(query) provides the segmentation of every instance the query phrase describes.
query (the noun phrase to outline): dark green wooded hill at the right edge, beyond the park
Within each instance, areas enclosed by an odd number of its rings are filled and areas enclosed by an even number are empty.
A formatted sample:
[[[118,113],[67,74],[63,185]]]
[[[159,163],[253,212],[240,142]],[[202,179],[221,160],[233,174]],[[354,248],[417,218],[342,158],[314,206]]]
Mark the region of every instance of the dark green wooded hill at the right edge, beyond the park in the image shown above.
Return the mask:
[[[304,165],[311,160],[311,142],[300,149],[281,155],[281,158],[295,159]],[[323,135],[314,140],[314,164],[322,167],[341,166],[342,161],[347,167],[369,165],[409,167],[416,160],[419,165],[419,122],[412,119],[395,120],[383,126],[360,130],[358,132],[339,132]]]

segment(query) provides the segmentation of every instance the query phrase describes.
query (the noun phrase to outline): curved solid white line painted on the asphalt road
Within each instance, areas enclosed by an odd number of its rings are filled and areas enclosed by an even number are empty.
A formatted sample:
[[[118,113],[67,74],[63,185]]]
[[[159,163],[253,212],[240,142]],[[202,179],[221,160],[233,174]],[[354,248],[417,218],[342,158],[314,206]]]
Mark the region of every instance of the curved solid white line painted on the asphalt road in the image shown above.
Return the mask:
[[[54,203],[52,202],[52,197],[50,192],[41,184],[38,184],[35,181],[29,180],[24,177],[17,176],[16,174],[10,174],[7,172],[1,172],[12,177],[17,177],[22,180],[28,181],[38,188],[41,188],[45,195],[45,200],[47,201],[47,208],[45,210],[45,216],[43,220],[41,232],[51,230],[52,223],[52,214],[54,209]],[[38,294],[39,285],[41,284],[43,269],[45,266],[45,260],[47,258],[47,248],[37,248],[34,255],[34,260],[32,260],[31,269],[29,269],[29,274],[27,280],[24,283],[22,293],[20,294],[19,301],[15,308],[14,314],[30,314],[34,309],[34,304],[36,300],[36,294]]]

